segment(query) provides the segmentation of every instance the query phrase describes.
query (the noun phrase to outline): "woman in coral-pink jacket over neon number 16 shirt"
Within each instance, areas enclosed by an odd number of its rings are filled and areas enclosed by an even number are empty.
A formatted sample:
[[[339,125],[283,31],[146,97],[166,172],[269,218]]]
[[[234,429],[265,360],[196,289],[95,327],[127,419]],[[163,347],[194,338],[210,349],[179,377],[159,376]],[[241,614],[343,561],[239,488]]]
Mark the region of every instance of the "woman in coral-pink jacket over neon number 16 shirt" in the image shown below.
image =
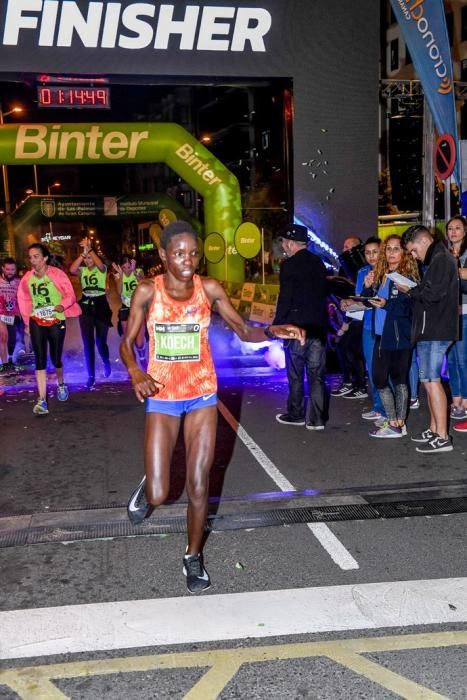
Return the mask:
[[[68,316],[79,316],[71,282],[62,270],[50,265],[49,249],[42,243],[28,248],[31,270],[18,287],[18,305],[25,325],[29,325],[36,364],[38,399],[33,408],[36,416],[47,415],[47,350],[57,375],[57,398],[68,399],[63,378],[62,351]]]

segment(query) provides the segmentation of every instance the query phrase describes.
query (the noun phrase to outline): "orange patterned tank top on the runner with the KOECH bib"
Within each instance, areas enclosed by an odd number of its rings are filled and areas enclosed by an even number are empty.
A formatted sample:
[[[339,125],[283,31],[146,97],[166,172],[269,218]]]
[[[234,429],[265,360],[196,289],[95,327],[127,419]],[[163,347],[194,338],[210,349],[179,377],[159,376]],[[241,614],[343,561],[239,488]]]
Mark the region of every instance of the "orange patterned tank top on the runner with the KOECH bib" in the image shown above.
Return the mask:
[[[185,401],[217,391],[208,341],[211,305],[199,275],[190,299],[167,294],[163,275],[154,278],[154,297],[146,317],[149,333],[148,374],[164,388],[161,401]]]

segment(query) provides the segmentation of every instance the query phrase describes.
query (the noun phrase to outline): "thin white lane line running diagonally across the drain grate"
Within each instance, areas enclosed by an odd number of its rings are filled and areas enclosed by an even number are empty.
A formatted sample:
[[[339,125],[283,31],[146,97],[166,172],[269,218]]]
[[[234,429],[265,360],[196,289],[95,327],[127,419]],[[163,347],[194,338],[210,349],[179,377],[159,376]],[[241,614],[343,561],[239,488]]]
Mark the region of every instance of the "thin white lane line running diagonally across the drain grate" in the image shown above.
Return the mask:
[[[281,491],[296,491],[297,489],[288,479],[279,471],[276,465],[263,452],[261,447],[253,440],[251,435],[247,433],[245,428],[238,420],[230,413],[227,406],[218,401],[217,408],[232,430],[238,435],[243,444],[250,450],[253,457],[264,469],[266,474],[274,481]],[[342,542],[335,536],[332,530],[325,523],[307,523],[313,535],[318,542],[324,547],[331,559],[345,571],[358,569],[358,562],[353,558],[348,549],[344,547]]]

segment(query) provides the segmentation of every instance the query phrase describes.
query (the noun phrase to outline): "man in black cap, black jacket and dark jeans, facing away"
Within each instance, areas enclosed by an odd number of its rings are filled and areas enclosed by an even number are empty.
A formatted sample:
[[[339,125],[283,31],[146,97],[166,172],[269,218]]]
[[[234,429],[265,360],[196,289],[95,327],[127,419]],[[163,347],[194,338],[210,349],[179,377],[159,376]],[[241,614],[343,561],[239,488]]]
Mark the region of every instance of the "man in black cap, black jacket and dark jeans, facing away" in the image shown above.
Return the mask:
[[[306,331],[304,345],[284,343],[289,396],[287,413],[276,419],[284,425],[305,425],[324,430],[327,413],[324,371],[326,367],[326,268],[307,250],[306,226],[290,224],[280,235],[287,257],[280,267],[279,298],[274,324],[294,323]],[[305,411],[305,373],[308,382],[308,411]]]

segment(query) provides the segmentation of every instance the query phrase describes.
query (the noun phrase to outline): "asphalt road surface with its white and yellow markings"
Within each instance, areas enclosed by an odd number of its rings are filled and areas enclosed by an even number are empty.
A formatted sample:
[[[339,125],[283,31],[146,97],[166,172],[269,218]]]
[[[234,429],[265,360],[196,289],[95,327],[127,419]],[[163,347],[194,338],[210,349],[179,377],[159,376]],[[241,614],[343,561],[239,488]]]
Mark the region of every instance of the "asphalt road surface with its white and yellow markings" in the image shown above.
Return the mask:
[[[368,401],[342,398],[323,433],[283,426],[283,372],[233,364],[202,596],[181,572],[182,444],[169,503],[126,522],[128,384],[76,375],[46,418],[29,375],[3,387],[0,698],[467,698],[467,437],[436,456],[371,440]]]

